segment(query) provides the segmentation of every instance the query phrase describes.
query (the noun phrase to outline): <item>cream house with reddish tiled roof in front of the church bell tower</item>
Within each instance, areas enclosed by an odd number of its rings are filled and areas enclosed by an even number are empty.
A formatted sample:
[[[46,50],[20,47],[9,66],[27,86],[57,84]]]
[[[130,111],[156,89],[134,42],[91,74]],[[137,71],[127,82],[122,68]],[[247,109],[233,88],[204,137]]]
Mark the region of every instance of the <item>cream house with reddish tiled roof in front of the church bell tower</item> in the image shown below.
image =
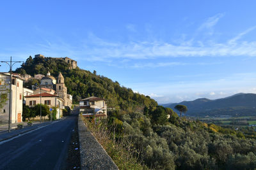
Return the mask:
[[[56,118],[61,118],[63,115],[63,109],[64,109],[64,100],[60,96],[56,96],[54,94],[49,93],[42,93],[42,94],[33,94],[31,96],[25,96],[26,99],[26,105],[27,106],[35,106],[36,104],[40,104],[40,98],[41,103],[46,104],[49,106],[49,108],[56,107],[57,108],[57,114]]]

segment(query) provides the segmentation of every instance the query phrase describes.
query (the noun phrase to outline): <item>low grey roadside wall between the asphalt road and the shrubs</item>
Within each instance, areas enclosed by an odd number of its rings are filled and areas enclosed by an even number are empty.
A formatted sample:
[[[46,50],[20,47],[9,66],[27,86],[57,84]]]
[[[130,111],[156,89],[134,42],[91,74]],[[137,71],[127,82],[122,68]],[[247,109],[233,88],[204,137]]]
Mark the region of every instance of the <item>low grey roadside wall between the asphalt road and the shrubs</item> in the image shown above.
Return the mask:
[[[81,169],[118,169],[115,162],[87,129],[81,115],[78,117]]]

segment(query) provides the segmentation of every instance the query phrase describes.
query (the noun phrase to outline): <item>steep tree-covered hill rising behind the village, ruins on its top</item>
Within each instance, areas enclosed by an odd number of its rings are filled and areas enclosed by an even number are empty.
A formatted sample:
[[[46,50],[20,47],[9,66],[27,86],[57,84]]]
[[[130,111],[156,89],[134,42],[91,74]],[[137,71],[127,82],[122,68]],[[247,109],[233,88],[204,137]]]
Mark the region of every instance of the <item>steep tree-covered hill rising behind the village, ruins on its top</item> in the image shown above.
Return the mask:
[[[45,75],[48,71],[55,77],[59,72],[63,74],[68,94],[73,96],[74,103],[86,97],[97,96],[104,97],[109,107],[121,110],[131,111],[144,106],[157,106],[157,102],[149,96],[121,87],[117,81],[97,75],[96,71],[91,73],[79,67],[70,69],[70,64],[59,58],[29,56],[26,62],[15,70],[15,73],[34,76],[35,74]]]

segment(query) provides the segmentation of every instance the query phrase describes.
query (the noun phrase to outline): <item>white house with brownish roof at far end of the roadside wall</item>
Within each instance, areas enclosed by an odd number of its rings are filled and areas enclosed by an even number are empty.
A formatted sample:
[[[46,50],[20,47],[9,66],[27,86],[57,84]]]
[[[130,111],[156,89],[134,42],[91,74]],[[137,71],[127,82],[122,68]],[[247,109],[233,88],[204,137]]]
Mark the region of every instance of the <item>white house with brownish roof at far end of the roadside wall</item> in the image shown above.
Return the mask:
[[[79,102],[79,112],[84,117],[107,117],[107,104],[99,97],[88,97]]]

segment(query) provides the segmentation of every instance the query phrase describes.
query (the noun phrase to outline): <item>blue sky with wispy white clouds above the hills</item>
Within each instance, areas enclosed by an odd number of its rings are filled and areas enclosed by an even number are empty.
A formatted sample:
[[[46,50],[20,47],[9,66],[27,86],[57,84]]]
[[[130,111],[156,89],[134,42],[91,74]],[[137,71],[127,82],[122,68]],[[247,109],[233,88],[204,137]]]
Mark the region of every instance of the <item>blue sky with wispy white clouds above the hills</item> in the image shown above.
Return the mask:
[[[256,93],[255,6],[236,0],[1,1],[0,60],[70,57],[158,103]]]

